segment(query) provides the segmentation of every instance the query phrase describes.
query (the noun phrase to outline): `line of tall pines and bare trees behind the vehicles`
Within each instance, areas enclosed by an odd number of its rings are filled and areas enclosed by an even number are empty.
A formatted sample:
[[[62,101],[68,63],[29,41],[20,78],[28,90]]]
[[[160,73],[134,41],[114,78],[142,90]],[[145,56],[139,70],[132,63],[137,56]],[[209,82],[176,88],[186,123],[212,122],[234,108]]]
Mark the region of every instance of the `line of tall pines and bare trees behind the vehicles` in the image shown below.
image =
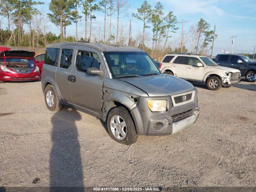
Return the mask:
[[[130,15],[141,22],[141,31],[136,36],[132,30],[130,21],[129,29],[122,24],[123,18],[129,16],[128,0],[51,0],[50,12],[45,16],[36,7],[44,2],[34,0],[2,0],[0,4],[0,15],[7,21],[4,29],[0,23],[1,44],[13,46],[44,47],[47,44],[61,41],[84,40],[96,43],[126,44],[142,48],[151,54],[165,54],[169,52],[191,52],[204,54],[206,47],[212,41],[214,31],[210,30],[208,24],[201,18],[195,25],[184,32],[183,44],[179,39],[172,38],[172,34],[179,29],[177,17],[174,12],[164,14],[164,7],[157,2],[152,7],[146,0],[137,8],[137,11]],[[102,30],[95,37],[93,32],[94,21],[98,12],[104,16]],[[116,22],[113,22],[113,17]],[[83,35],[78,33],[78,22],[84,18]],[[54,24],[60,31],[59,35],[54,34],[48,28],[48,22]],[[66,28],[75,24],[74,36],[66,35]],[[26,30],[25,30],[26,28]],[[146,30],[148,29],[148,30]],[[151,31],[149,33],[149,31]],[[172,42],[170,41],[172,39]],[[176,43],[175,43],[176,42]],[[190,46],[186,46],[189,44]],[[182,47],[181,47],[182,46]]]

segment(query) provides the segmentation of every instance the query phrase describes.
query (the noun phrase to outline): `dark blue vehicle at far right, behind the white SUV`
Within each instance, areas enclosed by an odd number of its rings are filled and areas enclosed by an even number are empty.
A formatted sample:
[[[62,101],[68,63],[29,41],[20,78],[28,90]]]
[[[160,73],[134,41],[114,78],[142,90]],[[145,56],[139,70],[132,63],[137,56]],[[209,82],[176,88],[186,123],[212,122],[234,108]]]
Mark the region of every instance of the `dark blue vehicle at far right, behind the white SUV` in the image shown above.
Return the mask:
[[[215,62],[224,67],[230,67],[241,71],[241,76],[247,81],[255,81],[256,62],[244,55],[218,54]]]

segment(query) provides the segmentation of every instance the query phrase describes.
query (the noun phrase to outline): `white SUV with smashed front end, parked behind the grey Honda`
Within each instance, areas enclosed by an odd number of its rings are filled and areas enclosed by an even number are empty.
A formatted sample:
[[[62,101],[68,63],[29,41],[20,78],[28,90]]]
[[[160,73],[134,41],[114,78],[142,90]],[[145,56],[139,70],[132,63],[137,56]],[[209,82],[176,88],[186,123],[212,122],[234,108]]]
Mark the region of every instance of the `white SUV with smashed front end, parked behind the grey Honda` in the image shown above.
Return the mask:
[[[216,64],[206,56],[194,54],[168,54],[161,60],[162,73],[188,81],[206,83],[208,89],[218,90],[240,82],[240,71]]]

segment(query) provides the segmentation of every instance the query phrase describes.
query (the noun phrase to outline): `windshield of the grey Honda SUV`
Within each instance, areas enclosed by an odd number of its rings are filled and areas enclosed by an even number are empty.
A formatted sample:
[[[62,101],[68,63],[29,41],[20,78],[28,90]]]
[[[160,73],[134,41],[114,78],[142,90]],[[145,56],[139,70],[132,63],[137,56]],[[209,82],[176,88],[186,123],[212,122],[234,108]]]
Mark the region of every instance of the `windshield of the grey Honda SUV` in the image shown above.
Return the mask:
[[[145,52],[105,52],[104,55],[114,78],[160,74]]]

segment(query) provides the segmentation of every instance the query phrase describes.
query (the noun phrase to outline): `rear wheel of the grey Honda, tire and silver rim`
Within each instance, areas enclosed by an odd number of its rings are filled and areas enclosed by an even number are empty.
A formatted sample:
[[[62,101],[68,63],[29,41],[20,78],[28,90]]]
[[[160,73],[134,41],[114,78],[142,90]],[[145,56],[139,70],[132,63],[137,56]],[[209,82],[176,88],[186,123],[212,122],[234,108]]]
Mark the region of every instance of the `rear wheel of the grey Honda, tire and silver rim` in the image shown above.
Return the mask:
[[[47,85],[44,89],[44,101],[46,104],[46,107],[50,111],[59,111],[62,108],[62,104],[60,104],[59,98],[56,95],[56,92],[52,85]]]

